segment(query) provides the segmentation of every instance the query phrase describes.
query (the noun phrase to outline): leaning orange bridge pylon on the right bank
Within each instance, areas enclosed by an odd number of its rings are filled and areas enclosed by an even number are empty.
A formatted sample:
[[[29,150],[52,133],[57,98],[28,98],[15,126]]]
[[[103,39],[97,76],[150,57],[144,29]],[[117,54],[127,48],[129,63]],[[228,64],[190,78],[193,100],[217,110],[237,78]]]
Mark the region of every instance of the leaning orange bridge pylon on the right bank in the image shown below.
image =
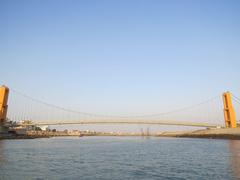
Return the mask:
[[[232,98],[230,92],[223,93],[223,106],[225,126],[227,128],[236,128],[237,127],[236,114],[234,111],[234,107],[232,105]]]

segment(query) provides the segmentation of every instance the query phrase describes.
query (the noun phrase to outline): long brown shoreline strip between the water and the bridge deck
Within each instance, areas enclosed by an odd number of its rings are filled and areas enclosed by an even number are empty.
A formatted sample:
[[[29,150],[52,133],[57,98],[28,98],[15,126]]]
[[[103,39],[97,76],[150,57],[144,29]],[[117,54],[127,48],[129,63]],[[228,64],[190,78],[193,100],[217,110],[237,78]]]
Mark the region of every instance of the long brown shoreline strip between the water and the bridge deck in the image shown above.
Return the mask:
[[[155,136],[175,138],[208,138],[208,139],[236,139],[240,140],[240,128],[215,128],[196,131],[161,132],[156,134],[114,133],[114,132],[65,132],[65,131],[28,131],[26,134],[2,134],[1,139],[34,139],[61,136]]]

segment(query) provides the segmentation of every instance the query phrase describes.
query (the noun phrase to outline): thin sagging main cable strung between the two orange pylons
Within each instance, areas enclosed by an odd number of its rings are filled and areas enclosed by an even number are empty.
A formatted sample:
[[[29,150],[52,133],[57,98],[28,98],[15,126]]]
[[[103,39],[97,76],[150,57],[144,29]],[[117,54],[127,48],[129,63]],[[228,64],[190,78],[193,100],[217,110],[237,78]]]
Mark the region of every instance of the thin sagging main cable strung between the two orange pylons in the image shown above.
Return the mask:
[[[28,95],[26,95],[26,94],[24,94],[22,92],[14,90],[14,89],[12,89],[12,91],[15,92],[16,94],[20,95],[20,96],[23,96],[23,97],[25,97],[27,99],[30,99],[31,101],[43,104],[43,105],[51,107],[51,108],[59,109],[59,110],[62,110],[62,111],[65,111],[65,112],[69,112],[69,113],[75,113],[75,114],[86,115],[86,116],[91,116],[91,117],[99,117],[99,118],[105,118],[105,117],[106,118],[147,118],[147,117],[158,117],[158,116],[162,116],[162,115],[169,115],[169,114],[173,114],[173,113],[176,113],[176,112],[186,111],[186,110],[189,110],[189,109],[201,106],[203,104],[212,102],[212,101],[214,101],[214,100],[216,100],[216,99],[218,99],[220,97],[220,95],[217,95],[217,96],[209,98],[209,99],[207,99],[205,101],[202,101],[200,103],[193,104],[193,105],[186,106],[186,107],[179,108],[179,109],[175,109],[175,110],[168,111],[168,112],[155,113],[155,114],[146,114],[146,115],[115,116],[115,115],[103,115],[103,114],[95,114],[95,113],[89,113],[89,112],[76,111],[76,110],[72,110],[72,109],[68,109],[68,108],[64,108],[64,107],[61,107],[61,106],[57,106],[57,105],[54,105],[54,104],[50,104],[50,103],[44,102],[42,100],[30,97],[30,96],[28,96]]]

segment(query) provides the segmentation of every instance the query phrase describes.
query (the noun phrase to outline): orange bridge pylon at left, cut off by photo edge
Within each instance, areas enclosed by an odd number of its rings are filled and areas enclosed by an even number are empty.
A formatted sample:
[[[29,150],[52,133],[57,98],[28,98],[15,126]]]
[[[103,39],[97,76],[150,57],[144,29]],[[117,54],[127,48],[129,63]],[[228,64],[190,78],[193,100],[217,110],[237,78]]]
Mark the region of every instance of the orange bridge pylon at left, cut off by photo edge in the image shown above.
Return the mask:
[[[4,123],[7,119],[7,102],[8,102],[9,88],[6,86],[0,87],[0,123]]]

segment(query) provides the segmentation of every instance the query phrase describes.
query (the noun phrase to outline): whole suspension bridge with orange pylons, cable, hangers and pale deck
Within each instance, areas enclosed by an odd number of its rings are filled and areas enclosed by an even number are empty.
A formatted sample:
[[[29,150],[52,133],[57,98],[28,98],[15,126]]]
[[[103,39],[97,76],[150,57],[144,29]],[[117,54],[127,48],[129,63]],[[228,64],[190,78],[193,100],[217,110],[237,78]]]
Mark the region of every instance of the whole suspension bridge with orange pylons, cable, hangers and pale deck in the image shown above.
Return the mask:
[[[76,124],[150,124],[193,127],[237,127],[234,107],[240,99],[226,92],[206,101],[147,115],[104,115],[76,111],[0,87],[0,121],[28,121],[28,125],[76,125]],[[238,108],[240,110],[240,108]],[[239,115],[239,111],[237,111]]]

